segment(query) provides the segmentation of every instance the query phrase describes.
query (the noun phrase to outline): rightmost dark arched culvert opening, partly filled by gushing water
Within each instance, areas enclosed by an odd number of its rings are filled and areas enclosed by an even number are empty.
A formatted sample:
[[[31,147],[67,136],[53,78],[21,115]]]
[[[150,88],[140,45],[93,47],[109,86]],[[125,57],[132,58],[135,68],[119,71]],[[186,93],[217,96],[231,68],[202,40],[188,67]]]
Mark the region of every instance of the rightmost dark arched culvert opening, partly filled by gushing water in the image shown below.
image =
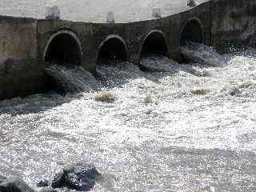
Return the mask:
[[[205,42],[202,24],[198,19],[191,19],[182,27],[180,43],[184,45],[188,41],[198,43]]]

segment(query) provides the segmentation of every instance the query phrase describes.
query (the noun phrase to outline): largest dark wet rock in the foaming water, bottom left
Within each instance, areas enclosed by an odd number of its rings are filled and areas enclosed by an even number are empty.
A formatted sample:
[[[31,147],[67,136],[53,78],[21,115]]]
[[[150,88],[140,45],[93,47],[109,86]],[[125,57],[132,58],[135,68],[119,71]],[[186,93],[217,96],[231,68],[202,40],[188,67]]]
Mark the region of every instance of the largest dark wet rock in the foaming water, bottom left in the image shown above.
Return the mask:
[[[72,190],[91,190],[102,174],[94,166],[78,163],[55,175],[52,187],[67,187]]]

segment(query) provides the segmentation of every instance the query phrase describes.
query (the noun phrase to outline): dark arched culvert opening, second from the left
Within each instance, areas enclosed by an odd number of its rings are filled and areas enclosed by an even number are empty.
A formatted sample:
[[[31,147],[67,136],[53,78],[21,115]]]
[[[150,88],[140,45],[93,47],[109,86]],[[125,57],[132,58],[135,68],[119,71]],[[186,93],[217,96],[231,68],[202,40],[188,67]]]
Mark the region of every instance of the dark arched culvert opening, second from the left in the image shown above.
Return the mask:
[[[128,60],[126,42],[117,35],[110,35],[104,40],[98,52],[98,64],[111,64]]]

